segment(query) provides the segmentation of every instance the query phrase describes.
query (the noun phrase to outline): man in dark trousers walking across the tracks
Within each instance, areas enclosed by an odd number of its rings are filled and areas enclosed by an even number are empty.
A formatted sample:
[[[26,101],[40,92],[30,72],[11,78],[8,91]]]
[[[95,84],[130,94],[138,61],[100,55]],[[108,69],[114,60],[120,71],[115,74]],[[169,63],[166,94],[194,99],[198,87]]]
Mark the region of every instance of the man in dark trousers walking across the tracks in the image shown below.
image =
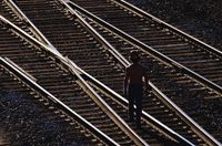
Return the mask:
[[[129,119],[133,121],[135,113],[137,126],[141,128],[143,79],[145,88],[148,88],[148,76],[145,69],[139,64],[140,55],[138,51],[130,52],[130,60],[132,64],[125,70],[124,95],[129,100]]]

